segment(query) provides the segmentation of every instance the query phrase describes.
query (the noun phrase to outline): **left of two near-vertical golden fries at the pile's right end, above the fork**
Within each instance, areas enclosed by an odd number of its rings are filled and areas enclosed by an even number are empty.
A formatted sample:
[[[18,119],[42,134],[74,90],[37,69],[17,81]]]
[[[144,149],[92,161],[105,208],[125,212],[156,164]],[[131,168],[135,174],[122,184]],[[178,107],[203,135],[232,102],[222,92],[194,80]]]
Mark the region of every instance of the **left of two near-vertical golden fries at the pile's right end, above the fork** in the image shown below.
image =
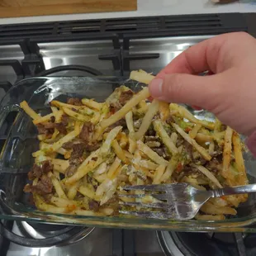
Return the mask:
[[[232,150],[232,135],[233,130],[230,126],[227,126],[225,130],[225,145],[223,149],[223,168],[222,176],[227,179],[227,182],[234,181],[234,175],[230,172],[230,160],[231,160],[231,150]]]

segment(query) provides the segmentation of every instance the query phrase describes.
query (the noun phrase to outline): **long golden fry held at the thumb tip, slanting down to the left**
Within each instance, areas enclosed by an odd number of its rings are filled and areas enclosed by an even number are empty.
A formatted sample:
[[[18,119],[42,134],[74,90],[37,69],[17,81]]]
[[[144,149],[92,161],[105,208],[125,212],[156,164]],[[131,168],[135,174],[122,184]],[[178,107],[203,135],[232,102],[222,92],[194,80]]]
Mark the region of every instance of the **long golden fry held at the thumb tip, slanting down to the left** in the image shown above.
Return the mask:
[[[130,99],[129,102],[126,103],[124,107],[122,107],[119,111],[117,111],[114,115],[110,116],[109,118],[102,120],[100,123],[100,126],[102,129],[106,129],[108,126],[111,126],[112,124],[116,123],[116,121],[119,121],[121,118],[126,116],[126,114],[132,109],[132,107],[135,107],[140,101],[145,100],[145,98],[149,97],[149,89],[144,88],[137,94],[135,94],[134,97]]]

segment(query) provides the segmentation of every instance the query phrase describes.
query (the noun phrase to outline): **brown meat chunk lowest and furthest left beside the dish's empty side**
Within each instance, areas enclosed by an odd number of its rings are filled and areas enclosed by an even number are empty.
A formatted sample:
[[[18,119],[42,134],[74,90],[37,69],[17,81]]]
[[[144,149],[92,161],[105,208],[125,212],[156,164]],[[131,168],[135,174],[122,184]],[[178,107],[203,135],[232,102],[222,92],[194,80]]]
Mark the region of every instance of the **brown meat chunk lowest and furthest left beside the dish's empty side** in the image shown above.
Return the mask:
[[[24,192],[36,192],[40,195],[50,194],[53,190],[53,184],[51,183],[51,179],[45,175],[40,178],[40,181],[36,184],[36,186],[27,184],[24,187]]]

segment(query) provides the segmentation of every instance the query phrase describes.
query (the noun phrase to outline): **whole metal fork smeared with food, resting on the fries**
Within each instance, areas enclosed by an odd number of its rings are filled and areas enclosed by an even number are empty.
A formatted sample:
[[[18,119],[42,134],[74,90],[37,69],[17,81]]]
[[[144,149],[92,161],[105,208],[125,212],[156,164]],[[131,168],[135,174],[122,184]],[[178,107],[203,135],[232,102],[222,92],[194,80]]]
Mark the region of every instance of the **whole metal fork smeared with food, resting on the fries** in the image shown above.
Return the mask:
[[[136,208],[135,211],[122,209],[119,211],[121,214],[154,219],[190,220],[197,215],[201,206],[209,198],[256,192],[256,184],[208,191],[199,190],[187,183],[126,186],[123,189],[135,191],[135,194],[120,193],[119,197],[135,198],[136,201],[119,201],[119,203],[122,206],[136,206]],[[145,196],[152,196],[157,200],[152,203],[143,203],[141,200],[146,198]],[[140,208],[145,210],[140,211]],[[157,210],[152,211],[147,208],[157,208]]]

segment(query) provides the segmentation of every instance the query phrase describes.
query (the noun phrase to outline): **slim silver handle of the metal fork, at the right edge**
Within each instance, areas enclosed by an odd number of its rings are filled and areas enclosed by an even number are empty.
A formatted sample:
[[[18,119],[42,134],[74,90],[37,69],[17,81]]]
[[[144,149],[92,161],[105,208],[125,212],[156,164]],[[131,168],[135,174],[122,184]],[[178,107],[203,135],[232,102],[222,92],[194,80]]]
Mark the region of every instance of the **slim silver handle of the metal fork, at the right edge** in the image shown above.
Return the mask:
[[[224,187],[211,190],[211,197],[222,197],[236,194],[246,194],[256,192],[256,184],[237,186],[237,187]]]

